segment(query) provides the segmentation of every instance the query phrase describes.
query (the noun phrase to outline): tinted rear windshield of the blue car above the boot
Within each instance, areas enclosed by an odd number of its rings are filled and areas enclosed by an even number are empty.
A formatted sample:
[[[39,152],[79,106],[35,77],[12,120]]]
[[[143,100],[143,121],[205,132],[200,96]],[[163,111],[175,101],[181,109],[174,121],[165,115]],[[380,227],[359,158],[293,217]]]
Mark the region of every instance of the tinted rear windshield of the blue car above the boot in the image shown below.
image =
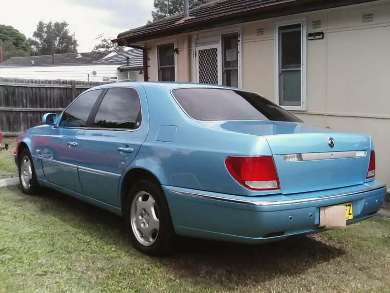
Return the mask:
[[[269,100],[249,92],[219,88],[178,88],[177,103],[195,120],[271,120],[302,122]]]

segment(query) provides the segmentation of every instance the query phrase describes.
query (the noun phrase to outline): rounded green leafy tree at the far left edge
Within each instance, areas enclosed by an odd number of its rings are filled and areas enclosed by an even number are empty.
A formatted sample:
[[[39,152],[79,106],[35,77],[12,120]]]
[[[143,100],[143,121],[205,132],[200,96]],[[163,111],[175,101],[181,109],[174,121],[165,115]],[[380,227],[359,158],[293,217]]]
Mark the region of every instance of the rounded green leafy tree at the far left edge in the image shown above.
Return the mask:
[[[0,46],[3,47],[4,60],[10,57],[31,55],[31,43],[19,30],[9,25],[0,24]]]

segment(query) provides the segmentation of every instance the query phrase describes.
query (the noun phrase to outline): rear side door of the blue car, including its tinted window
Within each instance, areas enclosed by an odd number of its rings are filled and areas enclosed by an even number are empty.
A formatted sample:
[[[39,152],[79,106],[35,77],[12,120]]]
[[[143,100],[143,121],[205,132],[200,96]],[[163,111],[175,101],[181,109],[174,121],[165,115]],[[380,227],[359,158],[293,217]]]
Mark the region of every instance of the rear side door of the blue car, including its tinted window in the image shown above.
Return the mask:
[[[88,160],[78,160],[81,188],[84,195],[119,207],[120,177],[148,134],[145,92],[109,88],[95,112],[77,138],[78,151],[88,153]]]

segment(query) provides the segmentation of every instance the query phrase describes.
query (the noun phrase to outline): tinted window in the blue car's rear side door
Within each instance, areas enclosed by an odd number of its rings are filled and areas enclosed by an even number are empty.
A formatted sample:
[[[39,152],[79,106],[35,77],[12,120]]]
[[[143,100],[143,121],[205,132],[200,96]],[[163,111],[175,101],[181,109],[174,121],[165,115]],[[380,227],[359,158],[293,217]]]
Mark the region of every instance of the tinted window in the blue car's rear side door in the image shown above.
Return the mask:
[[[110,88],[101,102],[94,127],[136,129],[141,124],[139,96],[132,88]]]

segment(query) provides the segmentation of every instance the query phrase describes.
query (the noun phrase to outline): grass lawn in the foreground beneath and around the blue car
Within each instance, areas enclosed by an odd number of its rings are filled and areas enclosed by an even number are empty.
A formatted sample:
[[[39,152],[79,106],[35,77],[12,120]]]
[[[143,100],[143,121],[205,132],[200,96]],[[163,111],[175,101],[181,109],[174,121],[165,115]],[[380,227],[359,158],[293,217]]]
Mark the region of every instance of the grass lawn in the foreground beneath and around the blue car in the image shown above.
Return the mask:
[[[390,221],[246,246],[133,249],[119,217],[66,195],[0,189],[0,292],[390,292]]]

